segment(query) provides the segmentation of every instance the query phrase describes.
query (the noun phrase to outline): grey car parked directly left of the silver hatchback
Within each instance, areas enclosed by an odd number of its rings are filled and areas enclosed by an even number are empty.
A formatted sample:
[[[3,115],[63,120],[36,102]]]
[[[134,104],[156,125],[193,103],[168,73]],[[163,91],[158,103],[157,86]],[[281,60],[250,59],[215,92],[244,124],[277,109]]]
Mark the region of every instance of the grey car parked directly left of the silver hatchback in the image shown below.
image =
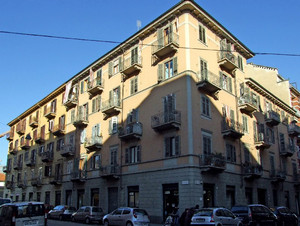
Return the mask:
[[[101,208],[96,206],[82,206],[75,213],[72,214],[72,221],[84,221],[86,224],[91,222],[102,223],[104,212]]]

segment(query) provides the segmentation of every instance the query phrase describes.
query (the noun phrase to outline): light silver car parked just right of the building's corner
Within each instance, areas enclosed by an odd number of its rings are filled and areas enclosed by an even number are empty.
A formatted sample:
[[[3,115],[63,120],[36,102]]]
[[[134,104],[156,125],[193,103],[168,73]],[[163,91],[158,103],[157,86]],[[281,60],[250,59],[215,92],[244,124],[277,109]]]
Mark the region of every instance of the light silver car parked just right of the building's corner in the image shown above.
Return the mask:
[[[223,207],[202,208],[195,212],[191,225],[236,225],[242,226],[240,218]]]

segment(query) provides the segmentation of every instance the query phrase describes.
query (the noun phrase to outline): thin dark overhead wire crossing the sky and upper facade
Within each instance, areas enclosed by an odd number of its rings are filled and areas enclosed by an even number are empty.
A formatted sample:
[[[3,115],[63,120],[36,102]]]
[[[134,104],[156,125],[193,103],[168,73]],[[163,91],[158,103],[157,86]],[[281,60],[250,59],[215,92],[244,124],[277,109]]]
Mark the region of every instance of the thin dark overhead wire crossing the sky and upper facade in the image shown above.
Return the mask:
[[[57,35],[46,35],[46,34],[35,34],[35,33],[24,33],[24,32],[15,32],[15,31],[3,31],[0,30],[2,34],[11,34],[11,35],[22,35],[22,36],[32,36],[32,37],[42,37],[42,38],[53,38],[53,39],[64,39],[64,40],[74,40],[74,41],[85,41],[85,42],[98,42],[98,43],[110,43],[110,44],[126,44],[126,42],[112,41],[112,40],[100,40],[100,39],[89,39],[89,38],[77,38],[77,37],[66,37],[66,36],[57,36]],[[127,43],[130,44],[130,43]],[[154,44],[142,44],[144,46],[158,46]],[[203,50],[203,51],[215,51],[221,52],[226,50],[220,49],[207,49],[207,48],[198,48],[198,47],[184,47],[179,46],[181,49],[191,49],[191,50]],[[235,51],[232,51],[235,52]],[[237,51],[236,51],[237,52]],[[270,53],[270,52],[253,52],[255,55],[271,55],[271,56],[288,56],[288,57],[300,57],[300,54],[297,53]]]

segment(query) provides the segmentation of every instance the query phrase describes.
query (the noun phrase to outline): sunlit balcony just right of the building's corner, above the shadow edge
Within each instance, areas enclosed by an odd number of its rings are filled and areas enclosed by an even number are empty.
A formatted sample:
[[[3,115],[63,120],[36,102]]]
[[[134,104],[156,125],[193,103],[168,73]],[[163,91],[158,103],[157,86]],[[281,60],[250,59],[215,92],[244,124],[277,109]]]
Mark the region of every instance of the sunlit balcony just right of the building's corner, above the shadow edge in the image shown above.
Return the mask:
[[[215,96],[221,90],[220,76],[208,70],[201,71],[198,79],[197,88],[209,95]]]

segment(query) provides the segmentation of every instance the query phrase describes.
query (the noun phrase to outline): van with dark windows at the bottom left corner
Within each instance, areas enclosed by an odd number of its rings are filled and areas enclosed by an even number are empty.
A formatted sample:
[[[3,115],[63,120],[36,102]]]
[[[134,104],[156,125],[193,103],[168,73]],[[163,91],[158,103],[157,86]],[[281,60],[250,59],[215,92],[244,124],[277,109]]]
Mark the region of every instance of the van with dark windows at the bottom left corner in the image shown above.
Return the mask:
[[[43,202],[6,203],[0,206],[1,226],[45,226]]]

